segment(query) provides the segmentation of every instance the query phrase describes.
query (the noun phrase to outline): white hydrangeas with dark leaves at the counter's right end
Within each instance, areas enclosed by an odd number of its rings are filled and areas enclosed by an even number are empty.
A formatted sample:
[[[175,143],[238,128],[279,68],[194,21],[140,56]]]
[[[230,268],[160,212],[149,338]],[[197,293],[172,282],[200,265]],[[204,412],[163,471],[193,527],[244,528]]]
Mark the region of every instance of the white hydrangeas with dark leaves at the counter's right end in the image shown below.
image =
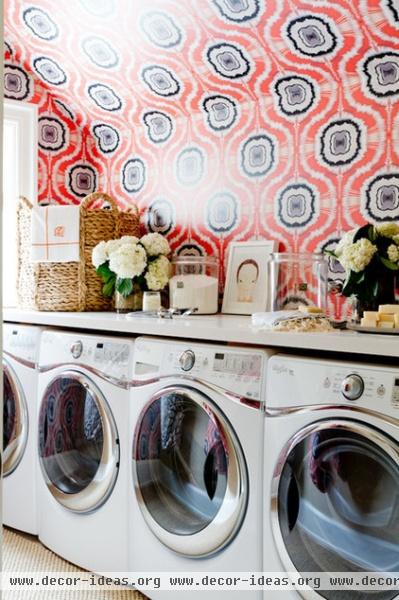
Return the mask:
[[[353,296],[364,309],[395,302],[399,271],[399,224],[367,223],[345,233],[333,252],[346,271],[341,293]]]

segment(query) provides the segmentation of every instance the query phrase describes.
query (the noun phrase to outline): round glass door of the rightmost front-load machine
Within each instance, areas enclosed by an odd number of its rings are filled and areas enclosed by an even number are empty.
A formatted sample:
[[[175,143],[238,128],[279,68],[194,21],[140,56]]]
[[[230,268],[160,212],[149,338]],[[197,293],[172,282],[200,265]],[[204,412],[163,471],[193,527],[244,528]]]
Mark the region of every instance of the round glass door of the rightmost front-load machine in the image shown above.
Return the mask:
[[[274,533],[288,571],[399,571],[397,442],[362,423],[321,421],[293,438],[279,464]],[[337,591],[318,593],[337,598]],[[351,600],[397,595],[345,593]]]

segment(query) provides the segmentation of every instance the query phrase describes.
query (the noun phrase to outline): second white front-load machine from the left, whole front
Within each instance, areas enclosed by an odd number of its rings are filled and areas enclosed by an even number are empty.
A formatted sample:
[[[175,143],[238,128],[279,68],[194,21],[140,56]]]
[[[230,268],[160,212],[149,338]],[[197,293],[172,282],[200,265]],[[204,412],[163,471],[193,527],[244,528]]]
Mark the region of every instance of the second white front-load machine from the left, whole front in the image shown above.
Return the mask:
[[[43,333],[38,377],[41,542],[84,569],[127,570],[133,341]]]

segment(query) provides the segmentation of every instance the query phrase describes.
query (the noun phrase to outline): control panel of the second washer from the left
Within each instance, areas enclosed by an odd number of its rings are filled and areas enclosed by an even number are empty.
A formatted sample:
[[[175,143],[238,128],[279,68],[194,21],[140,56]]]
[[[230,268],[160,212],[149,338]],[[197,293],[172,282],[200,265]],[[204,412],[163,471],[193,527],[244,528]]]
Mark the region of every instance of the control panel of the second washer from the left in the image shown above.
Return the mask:
[[[114,377],[128,377],[132,361],[133,342],[130,340],[79,335],[79,332],[42,335],[40,365],[86,365]]]

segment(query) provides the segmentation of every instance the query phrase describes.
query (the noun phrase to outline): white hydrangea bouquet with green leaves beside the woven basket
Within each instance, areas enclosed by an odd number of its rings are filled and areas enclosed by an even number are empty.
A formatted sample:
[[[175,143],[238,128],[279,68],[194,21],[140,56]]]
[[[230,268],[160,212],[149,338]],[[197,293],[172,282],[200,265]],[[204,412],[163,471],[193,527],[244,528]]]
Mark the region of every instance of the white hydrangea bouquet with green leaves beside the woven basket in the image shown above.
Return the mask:
[[[92,263],[104,282],[103,294],[116,291],[126,298],[137,289],[162,290],[170,276],[169,253],[169,243],[159,233],[100,242],[93,248]]]

